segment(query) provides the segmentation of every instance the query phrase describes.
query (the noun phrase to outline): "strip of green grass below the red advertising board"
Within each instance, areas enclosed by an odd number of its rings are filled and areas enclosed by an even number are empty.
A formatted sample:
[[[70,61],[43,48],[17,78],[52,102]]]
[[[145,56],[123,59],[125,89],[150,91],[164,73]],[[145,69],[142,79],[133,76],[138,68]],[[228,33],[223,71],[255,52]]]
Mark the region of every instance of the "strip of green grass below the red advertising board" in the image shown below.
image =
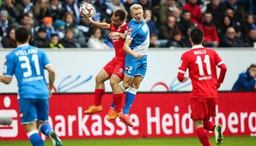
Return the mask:
[[[46,146],[52,146],[50,140]],[[214,137],[210,143],[215,146]],[[27,141],[0,141],[1,146],[29,146]],[[119,139],[80,139],[63,140],[64,146],[200,146],[198,137],[170,137],[170,138],[119,138]],[[222,146],[256,146],[256,137],[224,137]]]

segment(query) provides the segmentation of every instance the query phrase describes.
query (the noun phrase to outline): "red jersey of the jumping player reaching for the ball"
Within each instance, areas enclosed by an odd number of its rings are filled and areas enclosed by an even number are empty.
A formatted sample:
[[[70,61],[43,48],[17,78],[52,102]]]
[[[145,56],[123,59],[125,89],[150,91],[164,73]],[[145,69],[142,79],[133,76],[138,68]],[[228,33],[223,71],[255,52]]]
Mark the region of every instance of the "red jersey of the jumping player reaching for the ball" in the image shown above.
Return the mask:
[[[113,27],[113,23],[110,23],[111,32],[125,33],[127,31],[127,26],[129,23],[123,23],[119,27]],[[119,38],[119,36],[112,39],[113,48],[115,50],[116,57],[125,57],[125,50],[123,49],[125,44],[125,39]]]

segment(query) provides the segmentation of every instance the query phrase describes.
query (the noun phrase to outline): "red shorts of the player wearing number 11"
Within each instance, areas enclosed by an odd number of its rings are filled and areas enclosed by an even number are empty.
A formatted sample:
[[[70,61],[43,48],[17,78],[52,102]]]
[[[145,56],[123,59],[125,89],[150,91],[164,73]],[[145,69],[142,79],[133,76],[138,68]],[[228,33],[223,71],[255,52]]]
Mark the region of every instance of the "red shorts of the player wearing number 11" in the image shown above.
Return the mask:
[[[191,118],[192,120],[210,120],[216,116],[216,98],[192,98],[191,99]]]

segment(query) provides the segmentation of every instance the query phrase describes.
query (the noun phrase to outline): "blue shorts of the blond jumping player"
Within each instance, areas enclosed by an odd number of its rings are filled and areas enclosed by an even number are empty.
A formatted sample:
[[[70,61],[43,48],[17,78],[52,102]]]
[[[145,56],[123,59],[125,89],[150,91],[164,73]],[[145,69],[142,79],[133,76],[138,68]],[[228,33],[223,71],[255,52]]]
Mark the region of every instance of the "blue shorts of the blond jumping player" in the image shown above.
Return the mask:
[[[127,55],[126,55],[127,56]],[[129,77],[140,75],[145,76],[147,71],[147,55],[142,58],[135,58],[134,56],[125,56],[125,74]]]

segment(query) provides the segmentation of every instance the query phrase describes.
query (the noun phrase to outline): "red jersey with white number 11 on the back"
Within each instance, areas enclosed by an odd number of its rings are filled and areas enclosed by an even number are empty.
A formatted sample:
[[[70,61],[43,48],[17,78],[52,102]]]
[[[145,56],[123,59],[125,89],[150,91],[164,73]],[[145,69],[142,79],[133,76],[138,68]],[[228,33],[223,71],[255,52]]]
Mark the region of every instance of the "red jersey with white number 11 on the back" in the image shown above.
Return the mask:
[[[189,70],[192,80],[191,97],[217,98],[216,67],[220,66],[222,59],[215,50],[204,48],[202,45],[193,46],[192,50],[181,55],[179,73]]]

